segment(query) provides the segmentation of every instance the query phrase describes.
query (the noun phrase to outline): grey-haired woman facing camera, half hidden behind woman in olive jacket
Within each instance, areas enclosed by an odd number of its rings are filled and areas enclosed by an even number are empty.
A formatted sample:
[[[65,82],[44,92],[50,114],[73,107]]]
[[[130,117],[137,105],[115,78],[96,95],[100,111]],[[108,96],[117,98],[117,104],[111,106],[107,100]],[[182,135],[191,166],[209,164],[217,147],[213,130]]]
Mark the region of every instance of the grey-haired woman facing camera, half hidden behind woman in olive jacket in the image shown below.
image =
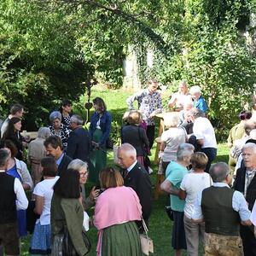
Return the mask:
[[[80,173],[80,190],[81,190],[81,200],[82,200],[82,205],[84,207],[84,210],[88,210],[90,207],[93,207],[95,205],[96,198],[99,195],[100,189],[96,189],[96,187],[93,187],[90,190],[90,195],[86,198],[85,197],[85,189],[84,189],[84,184],[87,181],[87,177],[89,175],[89,170],[88,170],[88,163],[84,162],[79,159],[74,159],[72,160],[69,165],[67,166],[67,169],[73,169],[77,170]]]

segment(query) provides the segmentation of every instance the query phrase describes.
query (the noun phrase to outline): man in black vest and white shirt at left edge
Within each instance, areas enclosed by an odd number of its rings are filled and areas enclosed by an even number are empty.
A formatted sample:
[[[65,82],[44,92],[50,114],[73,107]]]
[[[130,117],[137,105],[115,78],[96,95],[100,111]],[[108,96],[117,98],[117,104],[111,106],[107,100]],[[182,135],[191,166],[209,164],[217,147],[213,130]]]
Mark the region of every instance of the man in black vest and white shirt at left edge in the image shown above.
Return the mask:
[[[0,149],[0,244],[6,255],[19,255],[17,210],[25,210],[28,201],[20,180],[5,172],[9,158],[8,149]]]

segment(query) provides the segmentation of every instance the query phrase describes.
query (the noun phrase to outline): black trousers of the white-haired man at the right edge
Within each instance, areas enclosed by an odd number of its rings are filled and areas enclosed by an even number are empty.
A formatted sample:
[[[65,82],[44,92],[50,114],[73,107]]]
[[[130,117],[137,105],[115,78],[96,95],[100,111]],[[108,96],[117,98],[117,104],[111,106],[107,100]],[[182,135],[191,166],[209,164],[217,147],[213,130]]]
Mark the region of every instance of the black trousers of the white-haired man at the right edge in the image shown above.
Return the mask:
[[[253,226],[240,225],[240,235],[244,256],[256,256],[256,238],[253,234]]]

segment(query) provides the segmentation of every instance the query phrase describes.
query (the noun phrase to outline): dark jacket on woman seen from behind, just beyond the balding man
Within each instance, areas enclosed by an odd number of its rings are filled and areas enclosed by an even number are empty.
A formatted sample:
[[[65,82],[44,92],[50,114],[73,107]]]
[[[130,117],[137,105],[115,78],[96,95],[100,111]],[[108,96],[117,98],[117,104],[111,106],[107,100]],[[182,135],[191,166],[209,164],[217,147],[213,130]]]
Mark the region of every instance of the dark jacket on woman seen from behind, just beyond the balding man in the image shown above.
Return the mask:
[[[137,125],[125,125],[121,128],[121,142],[130,143],[140,156],[145,156],[146,148],[149,147],[146,131]]]

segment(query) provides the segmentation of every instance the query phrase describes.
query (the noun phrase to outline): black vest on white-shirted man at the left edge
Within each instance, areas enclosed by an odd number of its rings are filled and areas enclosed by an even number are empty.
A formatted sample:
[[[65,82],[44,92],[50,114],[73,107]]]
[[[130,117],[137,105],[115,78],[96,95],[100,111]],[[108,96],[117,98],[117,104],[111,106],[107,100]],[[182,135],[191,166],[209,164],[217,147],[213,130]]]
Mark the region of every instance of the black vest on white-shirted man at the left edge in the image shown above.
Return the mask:
[[[14,223],[17,219],[15,177],[0,172],[0,224]]]

